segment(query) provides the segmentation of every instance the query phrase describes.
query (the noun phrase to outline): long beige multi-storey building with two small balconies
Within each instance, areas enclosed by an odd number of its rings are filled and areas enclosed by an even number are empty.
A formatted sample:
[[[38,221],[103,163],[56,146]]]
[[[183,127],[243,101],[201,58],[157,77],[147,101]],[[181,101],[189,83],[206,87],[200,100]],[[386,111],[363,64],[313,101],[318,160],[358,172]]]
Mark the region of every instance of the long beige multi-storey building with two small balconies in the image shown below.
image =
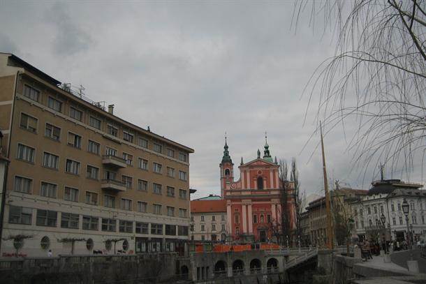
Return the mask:
[[[184,250],[193,149],[4,53],[0,130],[10,160],[1,255]]]

